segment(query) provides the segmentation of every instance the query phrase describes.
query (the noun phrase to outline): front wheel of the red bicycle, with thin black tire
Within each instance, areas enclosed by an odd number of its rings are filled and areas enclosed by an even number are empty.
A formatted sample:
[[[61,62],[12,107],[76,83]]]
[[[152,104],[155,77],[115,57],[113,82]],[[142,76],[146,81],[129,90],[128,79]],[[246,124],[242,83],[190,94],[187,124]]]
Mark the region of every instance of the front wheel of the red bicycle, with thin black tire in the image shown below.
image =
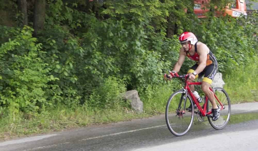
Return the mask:
[[[193,123],[193,102],[191,96],[188,94],[186,99],[186,105],[185,108],[188,107],[188,105],[191,105],[192,112],[189,112],[185,109],[185,114],[178,115],[178,108],[179,108],[179,102],[182,100],[182,103],[180,105],[180,110],[182,112],[183,105],[184,105],[184,99],[185,97],[184,90],[178,90],[174,92],[170,98],[167,101],[166,105],[166,123],[167,127],[170,130],[170,132],[175,136],[183,136],[185,135],[192,123]],[[182,97],[183,96],[183,97]],[[177,113],[176,113],[177,112]]]

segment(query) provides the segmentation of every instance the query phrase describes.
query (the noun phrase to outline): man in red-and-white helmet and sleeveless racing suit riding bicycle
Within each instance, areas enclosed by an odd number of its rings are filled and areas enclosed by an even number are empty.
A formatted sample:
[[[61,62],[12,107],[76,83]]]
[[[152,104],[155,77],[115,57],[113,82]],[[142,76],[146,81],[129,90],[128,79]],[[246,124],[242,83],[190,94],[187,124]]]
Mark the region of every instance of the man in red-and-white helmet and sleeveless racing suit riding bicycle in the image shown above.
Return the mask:
[[[209,90],[209,86],[217,72],[216,57],[204,43],[198,42],[196,36],[191,32],[182,33],[179,37],[179,42],[181,43],[182,48],[180,49],[179,58],[173,71],[179,72],[186,56],[196,62],[196,64],[193,65],[187,73],[189,76],[188,79],[191,82],[192,80],[204,75],[201,89],[212,103],[212,120],[215,121],[219,118],[220,108],[217,106],[215,97],[213,92]],[[171,80],[172,76],[169,76],[169,79]],[[194,86],[190,85],[190,89],[191,91],[194,91]]]

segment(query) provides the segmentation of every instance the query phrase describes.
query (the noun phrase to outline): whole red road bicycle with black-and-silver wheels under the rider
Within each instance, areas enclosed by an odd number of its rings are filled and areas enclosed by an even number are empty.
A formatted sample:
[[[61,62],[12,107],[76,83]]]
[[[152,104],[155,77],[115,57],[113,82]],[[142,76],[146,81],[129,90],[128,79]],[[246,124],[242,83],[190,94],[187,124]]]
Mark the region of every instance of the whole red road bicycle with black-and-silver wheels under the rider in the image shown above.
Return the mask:
[[[202,122],[207,117],[209,123],[214,129],[223,129],[230,118],[230,100],[227,92],[220,87],[209,88],[215,96],[216,104],[220,107],[220,117],[216,121],[212,120],[212,104],[205,96],[204,104],[200,105],[196,97],[192,94],[189,85],[201,85],[201,82],[189,82],[188,75],[178,75],[176,72],[168,70],[173,78],[182,78],[185,80],[185,86],[181,90],[175,91],[167,101],[166,123],[170,132],[176,136],[186,134],[193,123],[194,113],[197,119]],[[167,74],[164,78],[166,79]],[[169,76],[167,76],[169,78]],[[194,110],[193,102],[197,105]],[[191,110],[187,110],[187,107]]]

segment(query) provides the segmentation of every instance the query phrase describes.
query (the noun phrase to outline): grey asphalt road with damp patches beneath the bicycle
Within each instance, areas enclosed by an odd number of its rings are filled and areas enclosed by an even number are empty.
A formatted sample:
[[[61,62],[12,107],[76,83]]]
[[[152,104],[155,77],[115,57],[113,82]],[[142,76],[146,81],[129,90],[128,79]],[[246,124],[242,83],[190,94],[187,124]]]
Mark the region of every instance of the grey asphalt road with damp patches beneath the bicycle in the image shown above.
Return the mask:
[[[0,141],[0,150],[257,150],[258,102],[231,106],[230,123],[222,130],[196,116],[189,132],[176,137],[167,129],[165,115],[125,122],[52,132]]]

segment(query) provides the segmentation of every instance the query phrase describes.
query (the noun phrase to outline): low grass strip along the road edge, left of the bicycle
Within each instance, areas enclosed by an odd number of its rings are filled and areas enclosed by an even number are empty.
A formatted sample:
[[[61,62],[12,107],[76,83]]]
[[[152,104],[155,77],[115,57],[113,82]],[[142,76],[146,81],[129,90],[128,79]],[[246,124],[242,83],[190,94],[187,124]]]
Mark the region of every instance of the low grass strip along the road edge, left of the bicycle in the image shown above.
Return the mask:
[[[0,121],[0,139],[30,134],[41,134],[81,126],[95,125],[148,117],[127,108],[85,110],[84,106],[70,109],[61,106],[39,113],[7,115]]]

